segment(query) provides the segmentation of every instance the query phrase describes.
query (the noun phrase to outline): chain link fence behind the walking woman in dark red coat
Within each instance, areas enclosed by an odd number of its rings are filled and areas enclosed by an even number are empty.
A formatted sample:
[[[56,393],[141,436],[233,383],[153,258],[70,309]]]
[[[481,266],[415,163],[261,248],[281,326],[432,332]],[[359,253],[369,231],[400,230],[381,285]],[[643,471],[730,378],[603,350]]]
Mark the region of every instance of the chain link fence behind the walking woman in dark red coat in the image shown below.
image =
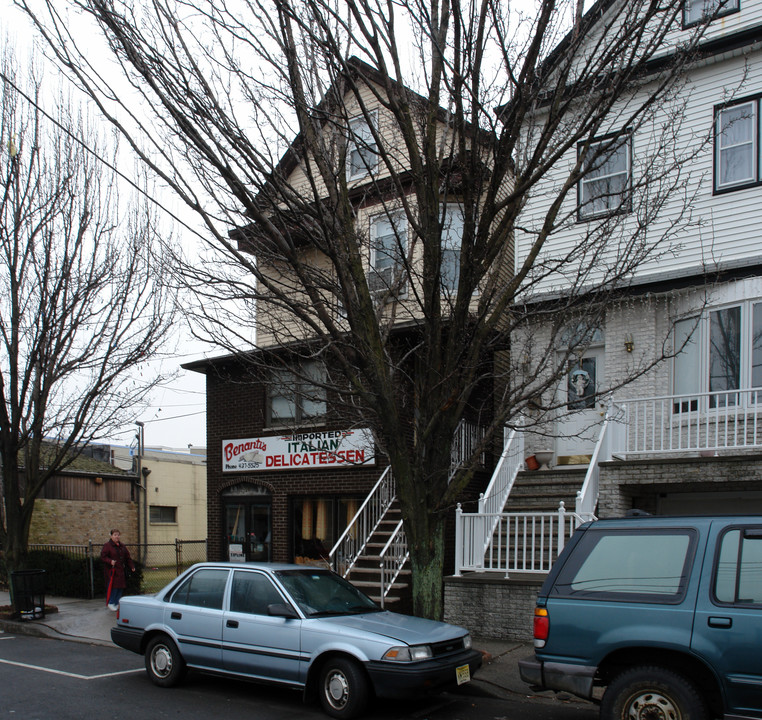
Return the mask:
[[[128,592],[153,593],[207,558],[206,540],[174,543],[125,543],[138,572],[128,578]],[[29,566],[45,570],[46,592],[94,598],[105,592],[100,544],[30,544]]]

